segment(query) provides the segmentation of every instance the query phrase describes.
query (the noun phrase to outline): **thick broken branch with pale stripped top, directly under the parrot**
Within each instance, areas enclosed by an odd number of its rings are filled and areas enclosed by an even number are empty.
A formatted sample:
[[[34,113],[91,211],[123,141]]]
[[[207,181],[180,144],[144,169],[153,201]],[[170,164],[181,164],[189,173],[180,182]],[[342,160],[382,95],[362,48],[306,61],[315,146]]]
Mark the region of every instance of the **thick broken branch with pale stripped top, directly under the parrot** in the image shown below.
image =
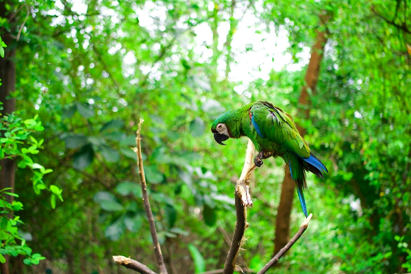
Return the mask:
[[[234,229],[232,245],[229,248],[227,259],[224,264],[224,274],[232,274],[236,269],[236,262],[241,246],[244,242],[243,236],[247,223],[247,206],[253,206],[251,196],[249,194],[249,182],[256,165],[253,162],[254,144],[249,140],[247,145],[247,153],[245,155],[244,167],[242,168],[240,179],[236,184],[236,228]]]

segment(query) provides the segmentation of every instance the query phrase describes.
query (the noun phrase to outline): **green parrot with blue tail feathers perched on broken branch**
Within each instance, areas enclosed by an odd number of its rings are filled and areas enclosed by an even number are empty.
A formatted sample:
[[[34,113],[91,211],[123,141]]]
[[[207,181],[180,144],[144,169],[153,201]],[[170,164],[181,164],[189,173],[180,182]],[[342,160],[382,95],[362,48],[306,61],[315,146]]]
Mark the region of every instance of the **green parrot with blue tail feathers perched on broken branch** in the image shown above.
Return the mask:
[[[262,160],[282,157],[290,169],[291,177],[297,183],[297,194],[304,215],[307,214],[303,189],[307,187],[306,171],[324,178],[328,172],[324,164],[310,152],[306,141],[299,134],[290,114],[269,102],[249,103],[242,108],[221,114],[212,123],[211,132],[220,145],[228,138],[247,136],[256,146],[256,166]]]

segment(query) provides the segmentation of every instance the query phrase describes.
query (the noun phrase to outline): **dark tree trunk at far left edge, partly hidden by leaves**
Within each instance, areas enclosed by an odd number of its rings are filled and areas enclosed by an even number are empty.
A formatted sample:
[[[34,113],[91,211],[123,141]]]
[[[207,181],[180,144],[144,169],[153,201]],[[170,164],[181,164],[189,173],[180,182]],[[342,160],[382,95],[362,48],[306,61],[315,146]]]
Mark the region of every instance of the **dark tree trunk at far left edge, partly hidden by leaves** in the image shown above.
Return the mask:
[[[5,2],[0,3],[0,17],[8,18],[10,20],[9,13],[5,8]],[[11,20],[11,25],[14,25],[14,20]],[[16,66],[14,65],[13,59],[16,55],[13,42],[14,39],[10,36],[9,33],[5,32],[1,34],[1,40],[4,41],[7,48],[5,48],[4,58],[0,57],[0,101],[3,103],[3,110],[1,114],[6,114],[14,112],[16,110],[16,99],[10,98],[10,95],[16,89]],[[13,160],[3,159],[0,160],[0,188],[13,188],[8,190],[14,192],[14,172],[16,170],[16,164]],[[6,195],[6,199],[9,203],[12,203],[14,197]],[[5,264],[0,264],[0,273],[9,274],[8,268],[8,256],[5,256]]]

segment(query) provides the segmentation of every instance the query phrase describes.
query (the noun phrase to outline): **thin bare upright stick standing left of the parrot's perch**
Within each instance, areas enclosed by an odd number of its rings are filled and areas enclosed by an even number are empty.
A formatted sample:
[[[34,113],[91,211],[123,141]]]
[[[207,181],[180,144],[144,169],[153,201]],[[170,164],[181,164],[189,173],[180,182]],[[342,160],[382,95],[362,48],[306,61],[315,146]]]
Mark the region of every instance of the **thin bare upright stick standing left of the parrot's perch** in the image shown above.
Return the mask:
[[[147,219],[149,220],[150,233],[151,233],[151,238],[153,239],[155,258],[157,258],[157,264],[158,264],[158,267],[160,268],[160,274],[167,274],[166,266],[164,264],[164,259],[161,253],[160,242],[158,242],[157,231],[155,229],[153,212],[151,211],[149,194],[147,192],[147,184],[146,184],[145,175],[144,175],[144,166],[142,165],[142,155],[141,155],[141,124],[142,122],[144,122],[144,120],[140,118],[140,123],[138,123],[137,138],[136,138],[137,147],[134,148],[134,152],[136,152],[137,154],[138,173],[140,173],[140,179],[141,179],[142,202],[144,203],[144,208],[145,208],[145,212],[147,215]]]

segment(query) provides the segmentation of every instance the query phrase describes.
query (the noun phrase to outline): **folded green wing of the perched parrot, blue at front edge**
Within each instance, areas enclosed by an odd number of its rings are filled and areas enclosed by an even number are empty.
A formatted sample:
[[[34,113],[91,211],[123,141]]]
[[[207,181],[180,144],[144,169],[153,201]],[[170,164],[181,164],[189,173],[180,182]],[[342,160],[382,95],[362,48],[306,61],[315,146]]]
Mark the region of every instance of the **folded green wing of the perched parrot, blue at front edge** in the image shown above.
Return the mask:
[[[251,121],[262,138],[282,145],[302,158],[310,157],[310,147],[303,140],[292,117],[269,102],[259,102],[250,109]]]

